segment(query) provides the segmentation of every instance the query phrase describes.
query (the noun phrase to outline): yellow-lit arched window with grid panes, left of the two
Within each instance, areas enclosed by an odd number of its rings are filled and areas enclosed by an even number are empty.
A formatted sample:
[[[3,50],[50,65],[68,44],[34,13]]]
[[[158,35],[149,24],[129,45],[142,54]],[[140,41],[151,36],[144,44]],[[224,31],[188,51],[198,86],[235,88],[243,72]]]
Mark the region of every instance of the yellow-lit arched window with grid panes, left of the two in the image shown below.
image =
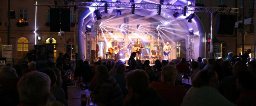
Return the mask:
[[[17,41],[17,58],[21,59],[23,55],[29,52],[29,41],[25,37],[21,37]]]

